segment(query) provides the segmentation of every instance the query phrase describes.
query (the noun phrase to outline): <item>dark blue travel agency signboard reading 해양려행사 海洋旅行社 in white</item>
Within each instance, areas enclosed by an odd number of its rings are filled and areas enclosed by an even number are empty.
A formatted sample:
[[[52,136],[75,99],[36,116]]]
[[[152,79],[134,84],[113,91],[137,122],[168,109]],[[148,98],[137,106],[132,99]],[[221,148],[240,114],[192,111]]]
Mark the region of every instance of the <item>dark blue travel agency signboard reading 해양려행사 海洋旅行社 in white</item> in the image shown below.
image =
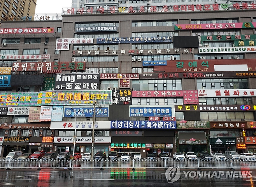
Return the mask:
[[[112,129],[176,129],[176,121],[111,121]]]

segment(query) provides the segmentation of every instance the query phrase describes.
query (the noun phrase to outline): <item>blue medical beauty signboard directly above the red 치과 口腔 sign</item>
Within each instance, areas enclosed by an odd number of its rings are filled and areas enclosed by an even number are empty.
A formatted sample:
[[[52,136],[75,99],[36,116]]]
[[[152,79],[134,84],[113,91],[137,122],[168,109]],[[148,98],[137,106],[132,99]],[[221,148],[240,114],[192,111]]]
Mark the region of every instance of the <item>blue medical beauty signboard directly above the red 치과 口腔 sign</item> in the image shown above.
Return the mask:
[[[130,117],[133,116],[170,116],[172,117],[172,107],[130,107]]]

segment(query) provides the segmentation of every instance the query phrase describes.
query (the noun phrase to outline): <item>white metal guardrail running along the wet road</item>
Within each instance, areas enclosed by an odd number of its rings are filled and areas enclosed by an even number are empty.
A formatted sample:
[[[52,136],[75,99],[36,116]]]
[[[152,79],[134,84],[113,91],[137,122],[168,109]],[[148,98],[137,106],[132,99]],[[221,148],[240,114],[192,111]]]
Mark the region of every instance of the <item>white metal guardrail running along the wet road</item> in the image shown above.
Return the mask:
[[[94,159],[90,160],[74,160],[74,159],[35,159],[35,160],[16,160],[16,159],[0,159],[1,169],[24,169],[24,168],[60,168],[60,169],[104,169],[104,168],[132,168],[133,170],[140,168],[169,168],[179,166],[180,168],[256,168],[256,161],[233,161],[227,160],[176,160],[168,159],[147,159],[121,161],[120,159]]]

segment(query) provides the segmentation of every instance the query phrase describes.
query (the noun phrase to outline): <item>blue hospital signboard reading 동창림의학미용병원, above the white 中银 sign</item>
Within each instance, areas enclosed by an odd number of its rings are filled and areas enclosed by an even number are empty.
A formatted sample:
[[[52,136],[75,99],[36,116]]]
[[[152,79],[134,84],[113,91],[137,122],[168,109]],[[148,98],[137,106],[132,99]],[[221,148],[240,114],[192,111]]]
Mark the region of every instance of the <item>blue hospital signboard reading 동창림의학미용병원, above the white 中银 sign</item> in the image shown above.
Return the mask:
[[[93,107],[65,108],[64,117],[93,117]],[[95,108],[95,117],[108,117],[109,108]]]

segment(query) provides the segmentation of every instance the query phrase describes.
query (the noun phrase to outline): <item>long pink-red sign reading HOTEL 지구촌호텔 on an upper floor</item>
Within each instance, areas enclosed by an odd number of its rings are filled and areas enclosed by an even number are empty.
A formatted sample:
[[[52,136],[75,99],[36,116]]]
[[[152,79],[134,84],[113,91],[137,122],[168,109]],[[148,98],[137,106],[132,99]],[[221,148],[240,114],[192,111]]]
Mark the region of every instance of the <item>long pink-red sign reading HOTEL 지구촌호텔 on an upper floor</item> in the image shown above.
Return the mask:
[[[246,23],[210,23],[210,24],[175,24],[175,30],[194,30],[194,29],[235,29],[235,28],[254,28],[255,22]]]

